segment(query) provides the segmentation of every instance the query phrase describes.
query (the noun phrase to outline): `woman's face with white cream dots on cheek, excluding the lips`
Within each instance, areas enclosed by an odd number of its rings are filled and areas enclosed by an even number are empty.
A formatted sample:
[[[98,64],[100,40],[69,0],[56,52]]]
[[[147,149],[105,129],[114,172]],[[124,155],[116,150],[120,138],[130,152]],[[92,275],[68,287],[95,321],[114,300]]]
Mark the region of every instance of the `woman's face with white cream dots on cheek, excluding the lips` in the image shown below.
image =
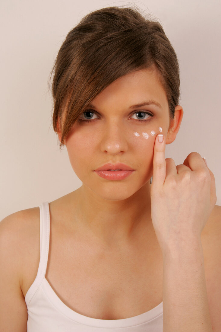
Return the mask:
[[[114,81],[92,104],[65,141],[69,159],[83,186],[106,200],[124,200],[153,174],[156,135],[167,135],[170,125],[166,93],[156,72],[144,69]],[[134,170],[123,180],[95,172],[106,163],[119,162]]]

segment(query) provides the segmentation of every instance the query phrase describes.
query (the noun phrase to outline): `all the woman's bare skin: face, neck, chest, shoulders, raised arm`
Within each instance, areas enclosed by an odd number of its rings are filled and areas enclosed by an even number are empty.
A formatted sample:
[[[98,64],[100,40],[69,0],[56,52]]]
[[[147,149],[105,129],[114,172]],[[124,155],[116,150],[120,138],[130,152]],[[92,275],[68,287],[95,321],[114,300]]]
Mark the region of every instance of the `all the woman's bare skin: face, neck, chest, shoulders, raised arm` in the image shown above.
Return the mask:
[[[162,109],[129,110],[147,99]],[[67,306],[88,317],[132,317],[163,300],[163,332],[210,332],[212,327],[218,332],[221,209],[214,207],[213,174],[196,152],[183,165],[165,160],[165,145],[176,138],[182,107],[176,107],[170,122],[165,91],[150,70],[119,78],[93,104],[98,120],[75,124],[65,141],[83,184],[49,204],[46,280]],[[141,123],[133,111],[153,117],[146,115],[150,120]],[[160,133],[159,126],[163,143],[150,134]],[[108,181],[94,173],[107,162],[123,162],[135,172]],[[0,225],[0,320],[4,331],[24,332],[24,297],[39,264],[39,208],[16,212]]]

